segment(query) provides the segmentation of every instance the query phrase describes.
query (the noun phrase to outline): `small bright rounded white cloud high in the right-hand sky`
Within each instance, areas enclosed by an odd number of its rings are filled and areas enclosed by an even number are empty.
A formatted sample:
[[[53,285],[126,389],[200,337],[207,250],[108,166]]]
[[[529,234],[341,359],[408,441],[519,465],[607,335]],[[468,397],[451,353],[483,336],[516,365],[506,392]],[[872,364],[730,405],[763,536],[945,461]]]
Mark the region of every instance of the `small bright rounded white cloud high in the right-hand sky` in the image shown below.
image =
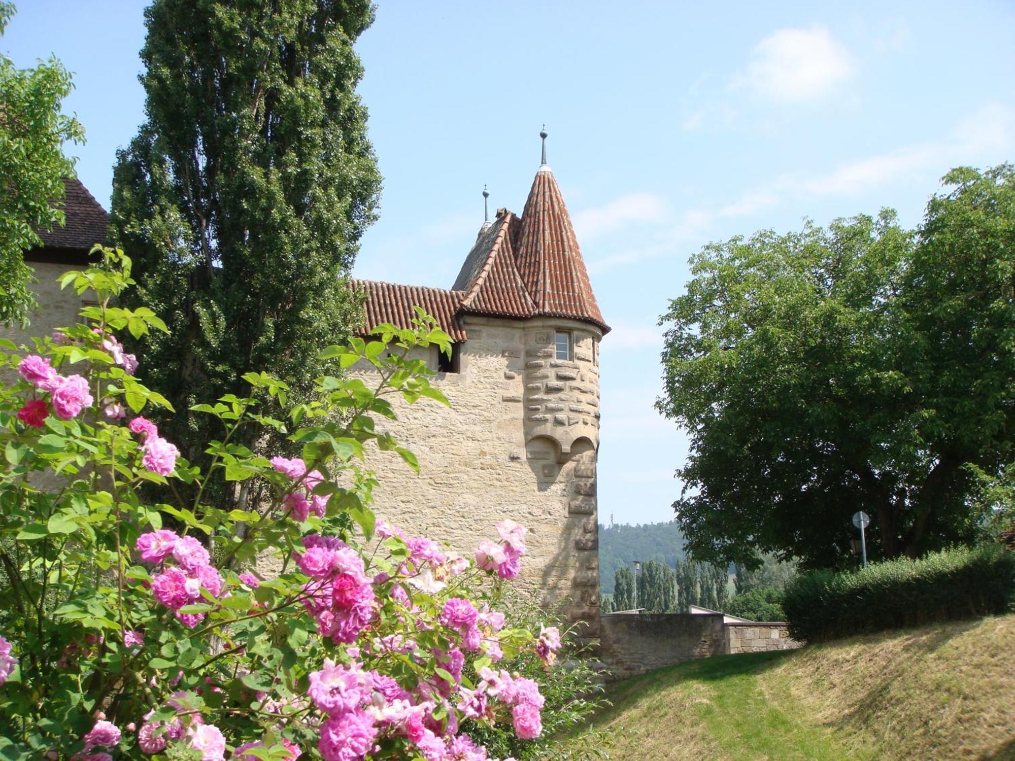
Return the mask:
[[[734,87],[777,101],[820,97],[857,72],[853,54],[825,26],[779,29],[753,50]]]

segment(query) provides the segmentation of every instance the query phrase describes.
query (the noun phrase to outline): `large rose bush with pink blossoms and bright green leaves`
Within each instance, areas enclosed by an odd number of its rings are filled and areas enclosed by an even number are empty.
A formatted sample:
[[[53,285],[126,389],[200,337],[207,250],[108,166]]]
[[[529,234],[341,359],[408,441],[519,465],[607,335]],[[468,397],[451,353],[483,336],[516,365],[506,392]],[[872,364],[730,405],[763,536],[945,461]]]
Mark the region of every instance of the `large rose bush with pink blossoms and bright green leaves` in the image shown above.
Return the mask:
[[[449,337],[420,313],[413,330],[329,347],[377,383],[324,376],[298,403],[248,373],[249,396],[194,408],[222,424],[201,473],[142,416],[173,410],[116,338],[165,326],[114,305],[130,260],[96,251],[101,265],[62,279],[95,294],[82,324],[0,347],[14,378],[0,392],[0,757],[451,761],[487,758],[464,719],[539,737],[538,684],[498,663],[549,663],[559,634],[505,626],[482,592],[519,572],[525,529],[505,521],[462,557],[369,508],[368,445],[417,468],[375,418],[395,417],[394,395],[447,403],[410,353]],[[246,426],[297,456],[231,442]],[[219,478],[264,498],[206,503]],[[151,499],[180,481],[193,503]]]

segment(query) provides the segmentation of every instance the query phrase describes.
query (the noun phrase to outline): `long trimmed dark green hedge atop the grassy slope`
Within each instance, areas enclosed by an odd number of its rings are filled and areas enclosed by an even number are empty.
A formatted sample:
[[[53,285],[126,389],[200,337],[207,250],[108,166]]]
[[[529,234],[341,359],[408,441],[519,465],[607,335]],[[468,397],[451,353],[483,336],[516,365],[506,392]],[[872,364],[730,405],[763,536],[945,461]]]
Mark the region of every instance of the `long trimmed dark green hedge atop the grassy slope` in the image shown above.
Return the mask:
[[[816,642],[933,621],[1007,613],[1015,602],[1015,552],[961,547],[871,563],[862,570],[803,573],[787,587],[790,635]]]

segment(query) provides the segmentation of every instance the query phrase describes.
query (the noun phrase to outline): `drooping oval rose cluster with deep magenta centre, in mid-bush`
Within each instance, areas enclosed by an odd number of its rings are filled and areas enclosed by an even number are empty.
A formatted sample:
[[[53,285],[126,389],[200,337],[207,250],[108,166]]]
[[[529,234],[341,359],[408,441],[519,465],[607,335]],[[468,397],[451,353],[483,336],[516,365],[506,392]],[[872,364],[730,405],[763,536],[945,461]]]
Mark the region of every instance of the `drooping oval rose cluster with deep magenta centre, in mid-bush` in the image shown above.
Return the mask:
[[[303,606],[317,620],[321,636],[351,644],[374,619],[374,586],[363,560],[340,539],[310,534],[302,543],[303,552],[292,558],[311,577]]]

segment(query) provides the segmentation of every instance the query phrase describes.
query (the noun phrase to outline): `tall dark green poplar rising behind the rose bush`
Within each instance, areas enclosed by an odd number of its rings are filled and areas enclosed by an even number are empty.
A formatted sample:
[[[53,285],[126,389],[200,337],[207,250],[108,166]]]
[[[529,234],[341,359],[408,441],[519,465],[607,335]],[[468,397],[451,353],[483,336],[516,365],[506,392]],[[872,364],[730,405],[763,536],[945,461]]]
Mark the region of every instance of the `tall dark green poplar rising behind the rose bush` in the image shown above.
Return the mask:
[[[134,299],[170,325],[141,372],[167,391],[167,434],[193,460],[194,402],[240,392],[249,370],[306,389],[356,321],[344,277],[380,176],[353,43],[373,8],[155,0],[145,20],[147,121],[118,155],[112,223]]]

